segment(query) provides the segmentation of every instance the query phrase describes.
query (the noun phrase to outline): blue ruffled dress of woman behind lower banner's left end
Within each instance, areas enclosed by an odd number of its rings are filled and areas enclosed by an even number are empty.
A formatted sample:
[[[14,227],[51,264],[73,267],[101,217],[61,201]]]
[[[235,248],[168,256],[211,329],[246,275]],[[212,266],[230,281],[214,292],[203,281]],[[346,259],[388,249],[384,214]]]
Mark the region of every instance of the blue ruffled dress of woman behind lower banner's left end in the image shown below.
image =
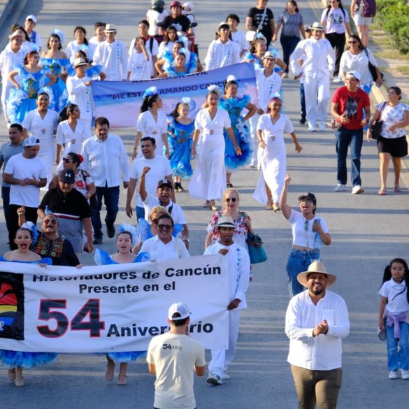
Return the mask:
[[[40,261],[9,261],[0,257],[0,261],[7,261],[8,263],[25,263],[25,264],[52,264],[52,259],[49,257],[41,259]],[[34,368],[36,366],[43,366],[51,364],[57,359],[58,354],[55,352],[22,352],[0,350],[0,362],[8,369],[12,368]]]

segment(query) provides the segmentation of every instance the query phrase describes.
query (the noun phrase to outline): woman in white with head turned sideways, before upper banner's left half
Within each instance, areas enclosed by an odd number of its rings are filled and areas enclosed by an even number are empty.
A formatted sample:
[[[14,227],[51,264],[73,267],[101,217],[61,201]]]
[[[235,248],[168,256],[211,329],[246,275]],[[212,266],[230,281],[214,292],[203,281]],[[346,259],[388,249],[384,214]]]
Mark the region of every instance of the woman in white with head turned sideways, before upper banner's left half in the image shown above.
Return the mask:
[[[143,101],[141,105],[141,113],[136,124],[136,136],[134,150],[132,151],[132,159],[141,157],[142,152],[139,151],[142,137],[150,136],[155,138],[156,149],[155,155],[165,155],[169,157],[168,146],[168,118],[166,114],[159,110],[162,108],[162,99],[157,93],[157,87],[150,87],[143,93]]]

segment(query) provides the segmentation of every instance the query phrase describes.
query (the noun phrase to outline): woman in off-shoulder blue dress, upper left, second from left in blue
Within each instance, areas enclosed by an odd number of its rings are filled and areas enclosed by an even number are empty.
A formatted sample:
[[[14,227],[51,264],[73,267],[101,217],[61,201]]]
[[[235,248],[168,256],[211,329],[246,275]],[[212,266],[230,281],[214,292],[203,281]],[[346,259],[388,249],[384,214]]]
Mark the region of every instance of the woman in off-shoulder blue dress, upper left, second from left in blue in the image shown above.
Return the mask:
[[[62,52],[61,38],[58,34],[50,34],[47,43],[48,50],[43,51],[40,65],[48,69],[52,76],[57,78],[57,82],[51,86],[53,103],[50,108],[61,112],[66,106],[68,92],[66,90],[66,71],[71,66],[70,60],[65,52]]]

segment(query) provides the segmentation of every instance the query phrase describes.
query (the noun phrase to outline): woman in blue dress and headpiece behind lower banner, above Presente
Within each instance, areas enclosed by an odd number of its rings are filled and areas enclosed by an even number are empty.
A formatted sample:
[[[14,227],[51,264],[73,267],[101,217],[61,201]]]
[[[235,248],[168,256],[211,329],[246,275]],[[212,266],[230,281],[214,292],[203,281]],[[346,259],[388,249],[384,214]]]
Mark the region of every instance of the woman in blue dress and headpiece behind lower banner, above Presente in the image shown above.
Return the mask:
[[[131,231],[132,232],[131,232]],[[118,252],[112,255],[101,249],[95,250],[95,262],[98,265],[106,264],[128,264],[138,263],[141,261],[148,261],[148,253],[143,253],[138,256],[131,252],[132,243],[136,241],[138,234],[136,229],[130,225],[122,225],[120,227],[120,233],[117,234],[117,250]],[[146,354],[146,351],[133,351],[133,352],[108,352],[106,354],[105,379],[108,381],[113,380],[115,371],[115,362],[120,363],[120,373],[118,374],[117,385],[127,385],[127,368],[128,362],[136,360],[138,357]]]

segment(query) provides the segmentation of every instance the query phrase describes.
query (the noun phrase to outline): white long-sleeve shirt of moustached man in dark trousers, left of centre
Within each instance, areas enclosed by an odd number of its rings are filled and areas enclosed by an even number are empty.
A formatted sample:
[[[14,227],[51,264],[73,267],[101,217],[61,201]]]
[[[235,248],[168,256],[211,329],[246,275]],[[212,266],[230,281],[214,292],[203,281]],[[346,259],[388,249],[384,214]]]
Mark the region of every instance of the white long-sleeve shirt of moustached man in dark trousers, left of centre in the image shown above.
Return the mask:
[[[115,187],[129,182],[129,161],[120,136],[108,134],[106,141],[96,135],[88,138],[82,146],[82,167],[87,169],[97,187]]]

